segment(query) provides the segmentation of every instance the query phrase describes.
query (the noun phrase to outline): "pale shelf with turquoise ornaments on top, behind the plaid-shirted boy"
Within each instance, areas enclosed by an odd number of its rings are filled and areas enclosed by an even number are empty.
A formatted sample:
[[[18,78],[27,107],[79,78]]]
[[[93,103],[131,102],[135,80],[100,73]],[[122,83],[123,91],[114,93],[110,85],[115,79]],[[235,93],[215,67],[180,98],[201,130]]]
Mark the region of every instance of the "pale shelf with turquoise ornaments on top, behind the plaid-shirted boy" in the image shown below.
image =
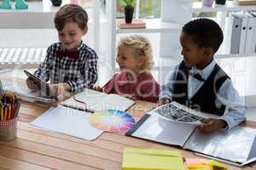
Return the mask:
[[[61,6],[70,3],[62,0]],[[28,2],[27,9],[15,9],[12,2],[11,9],[0,9],[0,29],[53,29],[54,17],[60,7],[52,6],[49,0]],[[86,8],[88,12],[88,9]],[[90,10],[91,13],[91,10]]]

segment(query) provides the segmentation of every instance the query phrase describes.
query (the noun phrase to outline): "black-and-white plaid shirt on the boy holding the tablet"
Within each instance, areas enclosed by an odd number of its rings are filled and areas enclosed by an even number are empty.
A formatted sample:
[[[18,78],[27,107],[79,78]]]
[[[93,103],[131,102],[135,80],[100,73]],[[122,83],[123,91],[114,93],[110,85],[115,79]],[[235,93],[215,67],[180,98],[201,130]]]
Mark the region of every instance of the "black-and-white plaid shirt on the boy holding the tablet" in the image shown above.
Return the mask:
[[[57,50],[63,50],[61,42],[53,43],[47,49],[44,62],[34,75],[45,82],[67,82],[71,92],[78,92],[83,88],[91,88],[97,80],[97,54],[83,42],[79,45],[79,59],[56,57]]]

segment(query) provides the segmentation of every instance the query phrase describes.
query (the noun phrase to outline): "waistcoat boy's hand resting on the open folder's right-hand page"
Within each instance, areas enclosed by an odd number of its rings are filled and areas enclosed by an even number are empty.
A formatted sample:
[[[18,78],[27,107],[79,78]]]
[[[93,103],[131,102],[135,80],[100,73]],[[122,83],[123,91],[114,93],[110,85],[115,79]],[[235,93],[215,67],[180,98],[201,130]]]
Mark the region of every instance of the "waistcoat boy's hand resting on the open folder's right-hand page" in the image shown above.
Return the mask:
[[[212,133],[220,128],[228,126],[227,122],[221,119],[206,119],[204,123],[198,126],[201,133]]]

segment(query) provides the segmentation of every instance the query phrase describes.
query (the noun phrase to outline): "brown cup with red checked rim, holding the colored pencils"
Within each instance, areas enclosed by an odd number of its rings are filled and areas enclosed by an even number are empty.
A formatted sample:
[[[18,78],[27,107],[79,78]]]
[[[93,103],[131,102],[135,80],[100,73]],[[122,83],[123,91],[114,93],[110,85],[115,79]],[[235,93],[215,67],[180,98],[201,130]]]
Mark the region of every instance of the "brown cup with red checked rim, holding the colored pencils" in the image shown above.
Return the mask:
[[[0,140],[9,141],[16,138],[17,128],[16,124],[18,121],[18,116],[9,121],[0,122]]]

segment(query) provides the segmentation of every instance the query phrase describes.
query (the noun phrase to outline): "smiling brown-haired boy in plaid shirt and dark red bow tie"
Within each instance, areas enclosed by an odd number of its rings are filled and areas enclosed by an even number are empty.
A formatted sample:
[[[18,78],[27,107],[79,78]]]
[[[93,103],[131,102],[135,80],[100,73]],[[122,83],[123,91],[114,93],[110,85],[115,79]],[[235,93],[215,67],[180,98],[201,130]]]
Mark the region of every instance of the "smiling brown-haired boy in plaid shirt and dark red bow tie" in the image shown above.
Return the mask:
[[[88,31],[87,21],[87,13],[75,4],[64,5],[55,14],[60,42],[49,46],[44,62],[34,75],[50,81],[49,87],[56,95],[92,88],[97,80],[97,54],[82,41]],[[38,88],[30,78],[26,84],[28,88]]]

